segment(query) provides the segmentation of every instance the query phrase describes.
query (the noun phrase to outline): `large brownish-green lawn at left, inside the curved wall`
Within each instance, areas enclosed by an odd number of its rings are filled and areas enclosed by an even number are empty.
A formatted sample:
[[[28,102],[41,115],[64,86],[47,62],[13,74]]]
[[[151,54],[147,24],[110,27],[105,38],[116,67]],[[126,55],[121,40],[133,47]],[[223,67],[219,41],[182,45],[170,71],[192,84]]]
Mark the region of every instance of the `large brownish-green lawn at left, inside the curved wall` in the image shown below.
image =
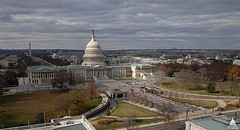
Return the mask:
[[[26,125],[28,120],[33,124],[39,112],[46,114],[47,121],[58,115],[65,116],[64,111],[56,111],[53,104],[56,96],[63,93],[60,90],[43,90],[0,97],[0,125],[5,128]],[[101,98],[93,100],[92,108],[100,102]]]

